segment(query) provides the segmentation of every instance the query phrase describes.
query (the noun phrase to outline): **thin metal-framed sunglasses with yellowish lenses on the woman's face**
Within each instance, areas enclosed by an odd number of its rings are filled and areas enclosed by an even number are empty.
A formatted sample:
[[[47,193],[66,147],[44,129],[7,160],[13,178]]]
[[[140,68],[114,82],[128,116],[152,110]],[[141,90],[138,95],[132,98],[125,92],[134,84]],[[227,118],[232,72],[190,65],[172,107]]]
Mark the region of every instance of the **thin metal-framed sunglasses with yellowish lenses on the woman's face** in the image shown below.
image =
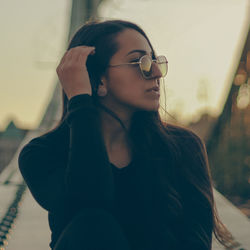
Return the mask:
[[[153,73],[153,70],[152,70],[153,62],[155,62],[157,64],[158,69],[161,72],[161,77],[166,76],[167,72],[168,72],[168,60],[165,56],[157,56],[156,59],[152,59],[149,55],[144,55],[139,59],[138,62],[109,65],[109,67],[138,64],[140,66],[140,70],[141,70],[141,74],[142,74],[143,78],[150,79],[152,77],[152,73]]]

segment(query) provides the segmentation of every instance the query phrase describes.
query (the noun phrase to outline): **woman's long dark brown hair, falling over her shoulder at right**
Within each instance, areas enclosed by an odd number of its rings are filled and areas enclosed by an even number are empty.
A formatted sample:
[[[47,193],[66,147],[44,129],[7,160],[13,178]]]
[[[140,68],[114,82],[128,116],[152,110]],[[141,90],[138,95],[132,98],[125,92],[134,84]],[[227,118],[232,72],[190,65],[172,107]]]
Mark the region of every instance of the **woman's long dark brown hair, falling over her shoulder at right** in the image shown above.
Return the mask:
[[[164,203],[166,206],[164,207],[165,213],[168,214],[167,217],[171,218],[172,222],[165,225],[169,246],[178,245],[177,242],[180,241],[179,236],[182,228],[184,236],[194,237],[194,241],[200,242],[200,249],[211,249],[211,235],[208,235],[210,231],[214,233],[222,245],[228,247],[232,243],[232,236],[218,218],[206,148],[199,137],[187,129],[164,123],[159,111],[136,112],[131,122],[131,128],[128,131],[119,117],[99,102],[97,89],[101,76],[105,74],[111,57],[118,50],[118,44],[115,41],[117,34],[125,29],[134,29],[142,34],[148,41],[153,51],[153,56],[155,55],[145,32],[138,25],[124,20],[87,22],[75,33],[70,41],[68,50],[81,45],[95,46],[95,55],[87,60],[87,69],[95,105],[120,122],[126,133],[128,133],[129,138],[131,138],[134,151],[140,149],[141,154],[155,154],[155,156],[159,157],[159,161],[162,160],[163,163],[164,161],[168,162],[167,167],[159,168],[158,182],[163,190],[162,197],[166,200]],[[61,119],[46,134],[66,127],[64,126],[64,121],[67,116],[68,98],[63,90],[62,100]],[[63,131],[66,130],[63,129]],[[190,140],[190,137],[193,140]],[[190,141],[193,142],[192,145],[190,145]],[[183,147],[180,147],[180,144]],[[183,162],[183,159],[189,159],[189,162]],[[197,159],[199,159],[198,165],[196,163]],[[188,167],[186,167],[187,164]],[[196,197],[195,200],[192,198],[193,196]],[[202,219],[197,217],[196,223],[198,224],[178,224],[177,222],[180,222],[182,216],[190,215],[189,213],[193,210],[192,206],[195,205],[199,206],[200,210],[204,208],[204,214],[201,215]],[[190,216],[195,217],[197,215],[192,214]],[[203,217],[206,217],[206,220]],[[193,231],[191,230],[192,233],[188,235],[190,228]]]

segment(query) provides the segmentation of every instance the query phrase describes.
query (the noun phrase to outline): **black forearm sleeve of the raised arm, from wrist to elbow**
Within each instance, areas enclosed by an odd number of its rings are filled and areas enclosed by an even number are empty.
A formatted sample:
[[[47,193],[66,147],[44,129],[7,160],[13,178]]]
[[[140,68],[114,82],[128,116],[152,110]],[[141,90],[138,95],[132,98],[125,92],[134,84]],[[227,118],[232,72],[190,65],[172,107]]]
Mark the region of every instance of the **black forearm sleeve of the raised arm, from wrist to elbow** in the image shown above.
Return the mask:
[[[75,204],[113,206],[114,180],[101,135],[98,109],[82,94],[68,103],[70,128],[66,191]],[[87,105],[86,105],[87,104]]]

